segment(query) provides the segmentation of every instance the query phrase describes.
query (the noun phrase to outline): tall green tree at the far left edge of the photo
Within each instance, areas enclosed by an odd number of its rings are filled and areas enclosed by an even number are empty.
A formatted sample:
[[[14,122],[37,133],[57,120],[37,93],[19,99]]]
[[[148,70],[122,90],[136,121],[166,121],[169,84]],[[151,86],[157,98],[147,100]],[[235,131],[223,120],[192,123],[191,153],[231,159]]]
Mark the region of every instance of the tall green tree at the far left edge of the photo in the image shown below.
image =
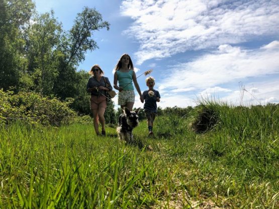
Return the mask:
[[[24,26],[34,8],[31,0],[0,0],[0,87],[4,89],[19,85],[25,65]]]

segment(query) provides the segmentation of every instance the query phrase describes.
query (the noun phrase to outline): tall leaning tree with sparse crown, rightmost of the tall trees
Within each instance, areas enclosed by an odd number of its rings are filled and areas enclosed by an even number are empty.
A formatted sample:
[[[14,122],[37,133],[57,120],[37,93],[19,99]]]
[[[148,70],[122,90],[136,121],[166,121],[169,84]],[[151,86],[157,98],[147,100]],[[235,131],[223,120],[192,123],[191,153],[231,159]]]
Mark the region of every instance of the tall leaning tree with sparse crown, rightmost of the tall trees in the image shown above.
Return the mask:
[[[59,46],[61,54],[58,77],[54,84],[56,95],[60,98],[77,96],[78,90],[74,83],[78,81],[78,78],[74,66],[84,60],[87,50],[92,51],[98,47],[91,36],[94,31],[102,28],[109,30],[109,23],[103,21],[102,15],[96,9],[85,7],[81,13],[77,14],[71,30],[62,35]]]

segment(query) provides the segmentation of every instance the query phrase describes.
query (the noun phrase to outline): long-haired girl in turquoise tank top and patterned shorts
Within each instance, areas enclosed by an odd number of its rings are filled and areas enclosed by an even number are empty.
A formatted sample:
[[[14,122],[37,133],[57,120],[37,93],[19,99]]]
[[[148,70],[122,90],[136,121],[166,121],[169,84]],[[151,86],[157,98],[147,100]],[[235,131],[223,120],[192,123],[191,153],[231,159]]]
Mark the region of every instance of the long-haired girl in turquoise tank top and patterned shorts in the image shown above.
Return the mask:
[[[119,86],[117,85],[119,82]],[[130,111],[133,110],[135,103],[135,92],[132,81],[142,100],[142,94],[134,71],[133,62],[128,54],[123,54],[115,66],[114,73],[114,88],[119,90],[118,104],[121,109],[127,107]]]

